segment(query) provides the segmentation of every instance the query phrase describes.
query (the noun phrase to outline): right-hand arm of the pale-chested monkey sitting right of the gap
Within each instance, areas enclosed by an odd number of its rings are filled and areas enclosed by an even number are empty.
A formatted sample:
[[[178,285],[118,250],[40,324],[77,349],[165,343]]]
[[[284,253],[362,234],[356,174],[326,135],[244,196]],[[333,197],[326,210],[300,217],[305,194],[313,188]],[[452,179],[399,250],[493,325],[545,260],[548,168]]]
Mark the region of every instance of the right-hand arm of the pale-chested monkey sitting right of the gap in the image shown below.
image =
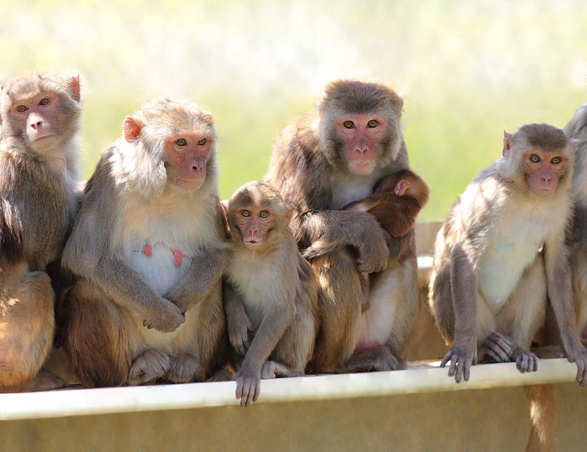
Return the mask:
[[[562,346],[569,361],[577,364],[576,381],[587,383],[587,349],[577,332],[568,250],[560,238],[546,239],[544,259],[546,287],[561,332]]]

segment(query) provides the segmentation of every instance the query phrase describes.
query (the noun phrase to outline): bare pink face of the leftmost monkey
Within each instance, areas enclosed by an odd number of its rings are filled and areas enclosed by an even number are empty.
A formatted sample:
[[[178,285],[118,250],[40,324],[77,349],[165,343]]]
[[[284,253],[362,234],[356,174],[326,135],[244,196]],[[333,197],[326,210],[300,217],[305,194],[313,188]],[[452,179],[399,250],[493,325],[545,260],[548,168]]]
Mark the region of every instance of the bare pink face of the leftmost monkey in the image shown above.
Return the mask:
[[[55,144],[59,133],[53,119],[58,115],[59,96],[53,91],[42,92],[29,98],[16,99],[9,108],[19,130],[24,132],[33,149],[43,150]]]

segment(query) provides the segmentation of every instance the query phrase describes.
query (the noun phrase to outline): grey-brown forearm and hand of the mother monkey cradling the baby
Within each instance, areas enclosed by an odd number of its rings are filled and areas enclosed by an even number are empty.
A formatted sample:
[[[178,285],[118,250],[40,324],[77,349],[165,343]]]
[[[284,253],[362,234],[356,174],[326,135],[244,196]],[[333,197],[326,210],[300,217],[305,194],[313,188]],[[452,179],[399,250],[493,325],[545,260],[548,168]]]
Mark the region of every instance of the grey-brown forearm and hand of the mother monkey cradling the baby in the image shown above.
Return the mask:
[[[306,235],[311,243],[302,253],[306,259],[324,255],[341,247],[354,246],[359,251],[362,261],[359,270],[375,273],[387,267],[387,233],[369,213],[320,210],[296,216],[292,219],[292,223],[294,222],[296,224],[292,230],[296,239],[302,230],[302,234]]]

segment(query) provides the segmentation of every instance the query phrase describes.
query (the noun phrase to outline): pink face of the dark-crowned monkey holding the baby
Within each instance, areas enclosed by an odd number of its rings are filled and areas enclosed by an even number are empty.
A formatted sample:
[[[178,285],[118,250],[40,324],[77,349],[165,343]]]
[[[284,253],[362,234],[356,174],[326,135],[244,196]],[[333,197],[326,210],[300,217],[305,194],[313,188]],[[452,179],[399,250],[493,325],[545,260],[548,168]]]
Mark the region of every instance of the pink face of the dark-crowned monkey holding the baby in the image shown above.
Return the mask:
[[[375,113],[343,115],[336,121],[336,132],[345,143],[345,158],[355,174],[369,174],[379,157],[379,142],[387,120]]]

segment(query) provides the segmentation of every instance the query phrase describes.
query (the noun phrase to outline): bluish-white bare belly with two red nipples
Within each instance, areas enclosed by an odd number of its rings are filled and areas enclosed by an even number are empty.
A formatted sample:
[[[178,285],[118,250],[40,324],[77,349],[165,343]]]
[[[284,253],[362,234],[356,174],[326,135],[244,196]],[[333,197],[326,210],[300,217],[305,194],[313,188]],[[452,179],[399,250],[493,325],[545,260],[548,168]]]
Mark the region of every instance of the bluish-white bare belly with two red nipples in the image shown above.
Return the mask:
[[[144,240],[131,243],[128,257],[129,265],[161,295],[183,279],[191,260],[178,246],[145,243]]]

